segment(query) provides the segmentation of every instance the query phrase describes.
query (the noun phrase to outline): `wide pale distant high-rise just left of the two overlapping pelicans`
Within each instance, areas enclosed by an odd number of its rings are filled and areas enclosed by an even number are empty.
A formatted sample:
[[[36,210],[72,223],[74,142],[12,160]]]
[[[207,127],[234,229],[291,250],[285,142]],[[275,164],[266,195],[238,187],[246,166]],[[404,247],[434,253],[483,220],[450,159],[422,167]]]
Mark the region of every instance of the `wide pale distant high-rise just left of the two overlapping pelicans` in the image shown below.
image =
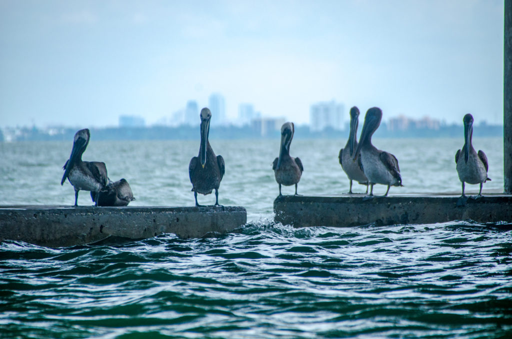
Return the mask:
[[[345,105],[334,100],[312,104],[309,110],[309,123],[311,131],[319,132],[326,128],[343,130]],[[348,115],[348,113],[347,113]]]

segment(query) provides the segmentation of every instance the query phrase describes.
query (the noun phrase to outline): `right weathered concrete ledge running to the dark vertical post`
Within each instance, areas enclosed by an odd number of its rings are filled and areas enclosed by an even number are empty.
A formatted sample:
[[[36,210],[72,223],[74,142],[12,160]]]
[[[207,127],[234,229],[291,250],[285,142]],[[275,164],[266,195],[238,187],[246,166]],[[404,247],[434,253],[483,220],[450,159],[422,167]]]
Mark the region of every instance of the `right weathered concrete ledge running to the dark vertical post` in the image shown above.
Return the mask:
[[[296,227],[356,226],[375,223],[431,224],[454,220],[512,221],[512,196],[486,194],[457,207],[458,196],[400,195],[365,199],[363,195],[338,197],[283,196],[274,200],[274,220]]]

